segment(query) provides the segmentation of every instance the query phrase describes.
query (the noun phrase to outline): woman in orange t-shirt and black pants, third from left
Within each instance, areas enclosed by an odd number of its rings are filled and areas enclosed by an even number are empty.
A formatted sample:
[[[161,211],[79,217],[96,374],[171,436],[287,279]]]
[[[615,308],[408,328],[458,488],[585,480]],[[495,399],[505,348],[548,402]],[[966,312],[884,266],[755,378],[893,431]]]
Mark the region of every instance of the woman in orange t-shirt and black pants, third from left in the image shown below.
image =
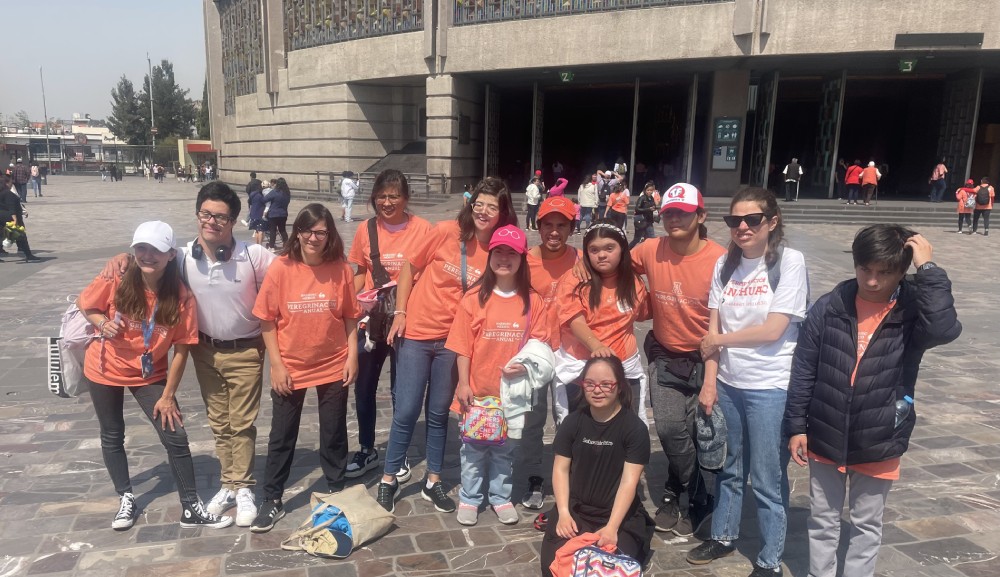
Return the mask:
[[[319,462],[330,492],[343,489],[347,469],[347,387],[358,374],[354,271],[333,215],[322,204],[306,205],[293,232],[268,269],[253,308],[271,362],[273,404],[264,501],[250,525],[255,533],[270,531],[285,516],[281,494],[309,389],[316,390]]]

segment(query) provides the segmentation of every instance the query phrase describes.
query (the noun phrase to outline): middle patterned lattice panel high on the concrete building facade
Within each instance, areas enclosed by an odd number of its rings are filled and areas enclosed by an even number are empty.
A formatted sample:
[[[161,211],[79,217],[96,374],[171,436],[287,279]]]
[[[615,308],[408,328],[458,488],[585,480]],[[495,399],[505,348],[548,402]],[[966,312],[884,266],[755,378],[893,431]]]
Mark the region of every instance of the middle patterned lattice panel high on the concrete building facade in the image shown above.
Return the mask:
[[[422,0],[285,0],[288,50],[423,28]]]

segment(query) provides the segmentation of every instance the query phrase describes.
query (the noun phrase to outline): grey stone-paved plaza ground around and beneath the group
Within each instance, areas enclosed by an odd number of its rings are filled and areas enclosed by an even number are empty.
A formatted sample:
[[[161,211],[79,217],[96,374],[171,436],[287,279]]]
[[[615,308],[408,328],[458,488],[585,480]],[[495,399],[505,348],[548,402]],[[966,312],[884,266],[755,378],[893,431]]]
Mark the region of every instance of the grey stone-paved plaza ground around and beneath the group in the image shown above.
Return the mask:
[[[74,576],[221,576],[282,577],[378,575],[537,575],[540,534],[533,515],[500,525],[490,512],[480,524],[462,528],[453,515],[436,513],[419,497],[424,472],[422,439],[411,450],[414,481],[404,485],[397,523],[376,543],[348,560],[327,561],[286,552],[280,541],[307,515],[308,496],[320,489],[315,452],[318,424],[314,409],[304,413],[299,450],[286,490],[288,516],[268,534],[246,529],[180,529],[178,503],[164,450],[136,405],[126,402],[126,447],[143,514],[131,531],[109,528],[117,497],[101,459],[98,424],[85,396],[59,399],[46,390],[45,337],[54,335],[75,294],[109,256],[127,250],[135,226],[144,220],[170,222],[179,239],[195,236],[196,185],[155,184],[136,177],[121,183],[98,178],[55,176],[44,198],[29,199],[27,221],[40,264],[0,264],[0,577]],[[420,213],[431,220],[451,218],[460,203]],[[293,202],[296,211],[304,202]],[[331,206],[331,208],[334,208]],[[363,208],[356,209],[365,216]],[[335,212],[336,214],[336,212]],[[710,215],[712,237],[725,241],[721,215]],[[343,226],[346,241],[357,224]],[[853,226],[794,226],[788,236],[806,254],[813,299],[852,273]],[[630,231],[631,232],[631,231]],[[1000,373],[995,327],[1000,313],[991,294],[998,282],[989,254],[996,237],[959,236],[943,228],[921,230],[936,249],[936,261],[955,281],[960,339],[930,352],[917,387],[918,426],[903,459],[902,479],[889,497],[878,574],[889,576],[1000,575]],[[240,229],[242,238],[248,237]],[[574,237],[579,245],[580,237]],[[388,371],[386,371],[388,373]],[[388,434],[390,408],[385,379],[380,389],[378,440]],[[188,368],[179,399],[191,439],[203,498],[218,489],[218,465],[205,422],[194,370]],[[310,397],[311,407],[315,401]],[[270,404],[259,419],[258,475],[264,465]],[[350,426],[352,437],[356,429]],[[551,439],[552,430],[548,431]],[[444,480],[458,482],[454,435]],[[652,497],[659,496],[665,460],[653,436],[654,457],[647,472]],[[356,441],[352,440],[352,449]],[[547,455],[551,460],[551,456]],[[807,573],[805,520],[808,489],[805,471],[791,465],[792,501],[785,554],[786,574]],[[372,472],[363,481],[372,486]],[[515,488],[519,495],[523,487]],[[454,494],[453,490],[453,494]],[[648,496],[647,496],[648,497]],[[652,510],[652,505],[650,505]],[[654,539],[649,575],[742,577],[757,550],[751,503],[745,507],[743,538],[737,555],[709,566],[684,561],[692,539]]]

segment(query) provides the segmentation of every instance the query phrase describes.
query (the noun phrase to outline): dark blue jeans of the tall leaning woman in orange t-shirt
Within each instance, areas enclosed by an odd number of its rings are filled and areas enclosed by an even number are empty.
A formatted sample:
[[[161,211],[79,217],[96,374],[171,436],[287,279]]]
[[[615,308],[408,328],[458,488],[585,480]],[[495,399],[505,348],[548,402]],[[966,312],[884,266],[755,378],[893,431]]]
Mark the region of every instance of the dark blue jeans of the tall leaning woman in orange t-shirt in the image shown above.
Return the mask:
[[[385,455],[386,475],[395,475],[403,467],[421,409],[427,423],[427,473],[441,473],[448,440],[448,407],[458,384],[457,355],[444,348],[444,342],[445,339],[403,339],[399,345],[396,361],[403,370],[396,375],[396,401]]]

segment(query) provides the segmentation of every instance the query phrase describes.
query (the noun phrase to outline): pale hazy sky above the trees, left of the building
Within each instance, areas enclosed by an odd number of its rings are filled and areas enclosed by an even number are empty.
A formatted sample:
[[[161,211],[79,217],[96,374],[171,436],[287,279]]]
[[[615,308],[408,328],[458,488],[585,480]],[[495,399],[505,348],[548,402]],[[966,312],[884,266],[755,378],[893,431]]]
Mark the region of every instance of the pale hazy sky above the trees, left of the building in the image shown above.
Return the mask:
[[[4,59],[0,113],[27,111],[41,122],[45,76],[49,118],[74,112],[106,118],[111,89],[124,74],[142,88],[146,53],[174,65],[174,79],[201,100],[205,82],[203,0],[0,0]],[[17,23],[17,24],[14,24]]]

